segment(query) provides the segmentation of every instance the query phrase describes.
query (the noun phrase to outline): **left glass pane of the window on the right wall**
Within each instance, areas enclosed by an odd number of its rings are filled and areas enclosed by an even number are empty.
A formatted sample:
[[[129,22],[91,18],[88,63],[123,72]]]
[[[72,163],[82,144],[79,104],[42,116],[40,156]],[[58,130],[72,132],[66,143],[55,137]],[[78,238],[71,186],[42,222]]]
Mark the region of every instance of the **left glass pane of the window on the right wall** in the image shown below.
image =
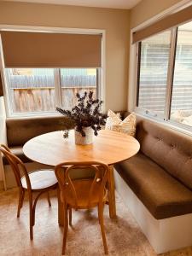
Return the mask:
[[[140,42],[140,74],[137,106],[156,114],[165,110],[167,67],[171,32],[163,32]]]

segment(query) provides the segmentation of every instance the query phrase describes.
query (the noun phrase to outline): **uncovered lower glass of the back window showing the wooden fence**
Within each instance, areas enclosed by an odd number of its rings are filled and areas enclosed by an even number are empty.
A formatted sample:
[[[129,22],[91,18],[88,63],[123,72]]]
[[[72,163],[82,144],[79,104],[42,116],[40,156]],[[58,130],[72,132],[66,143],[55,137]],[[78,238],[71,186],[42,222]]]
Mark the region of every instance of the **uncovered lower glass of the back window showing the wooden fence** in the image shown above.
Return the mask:
[[[97,96],[99,68],[5,68],[11,114],[49,113],[72,108],[76,93]]]

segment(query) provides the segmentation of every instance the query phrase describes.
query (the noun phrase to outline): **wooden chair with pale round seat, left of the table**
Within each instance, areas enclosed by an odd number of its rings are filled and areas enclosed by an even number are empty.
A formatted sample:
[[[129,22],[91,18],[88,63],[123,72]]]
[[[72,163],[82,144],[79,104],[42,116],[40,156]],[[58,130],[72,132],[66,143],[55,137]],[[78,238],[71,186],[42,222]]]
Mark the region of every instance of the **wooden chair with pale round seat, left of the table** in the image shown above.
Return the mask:
[[[55,177],[54,170],[37,170],[34,172],[27,172],[26,166],[23,162],[12,154],[10,149],[5,145],[0,145],[0,152],[6,157],[9,161],[9,165],[12,167],[12,170],[15,174],[15,179],[17,186],[19,188],[19,204],[17,210],[17,218],[20,217],[20,209],[23,206],[23,201],[25,197],[25,192],[28,192],[29,197],[29,212],[30,212],[30,238],[33,239],[32,227],[35,224],[35,208],[37,201],[40,195],[47,193],[47,199],[49,207],[51,207],[49,199],[49,190],[57,188],[57,179]],[[38,192],[34,202],[32,198],[33,192]]]

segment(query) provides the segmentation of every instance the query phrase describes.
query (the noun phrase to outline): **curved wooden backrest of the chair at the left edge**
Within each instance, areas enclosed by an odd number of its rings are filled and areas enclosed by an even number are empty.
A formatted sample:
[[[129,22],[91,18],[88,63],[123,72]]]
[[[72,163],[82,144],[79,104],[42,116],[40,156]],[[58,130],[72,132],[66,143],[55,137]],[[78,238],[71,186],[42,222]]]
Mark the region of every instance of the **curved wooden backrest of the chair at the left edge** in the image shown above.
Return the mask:
[[[23,162],[15,154],[11,153],[10,149],[3,144],[0,145],[0,152],[2,152],[6,159],[9,161],[9,165],[11,166],[15,174],[15,179],[18,187],[22,187],[20,178],[21,174],[23,174],[22,176],[26,177],[27,189],[32,189],[30,178],[28,176],[28,172],[26,171],[26,166],[23,164]]]

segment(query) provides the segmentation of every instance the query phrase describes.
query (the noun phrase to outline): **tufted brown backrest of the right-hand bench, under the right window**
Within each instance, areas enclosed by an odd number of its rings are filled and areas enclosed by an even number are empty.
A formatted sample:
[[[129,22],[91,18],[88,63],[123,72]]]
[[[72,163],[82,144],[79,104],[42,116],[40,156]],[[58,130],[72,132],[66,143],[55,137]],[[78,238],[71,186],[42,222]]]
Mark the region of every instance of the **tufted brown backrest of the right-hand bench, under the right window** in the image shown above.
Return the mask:
[[[136,137],[143,154],[192,189],[192,137],[139,117]]]

